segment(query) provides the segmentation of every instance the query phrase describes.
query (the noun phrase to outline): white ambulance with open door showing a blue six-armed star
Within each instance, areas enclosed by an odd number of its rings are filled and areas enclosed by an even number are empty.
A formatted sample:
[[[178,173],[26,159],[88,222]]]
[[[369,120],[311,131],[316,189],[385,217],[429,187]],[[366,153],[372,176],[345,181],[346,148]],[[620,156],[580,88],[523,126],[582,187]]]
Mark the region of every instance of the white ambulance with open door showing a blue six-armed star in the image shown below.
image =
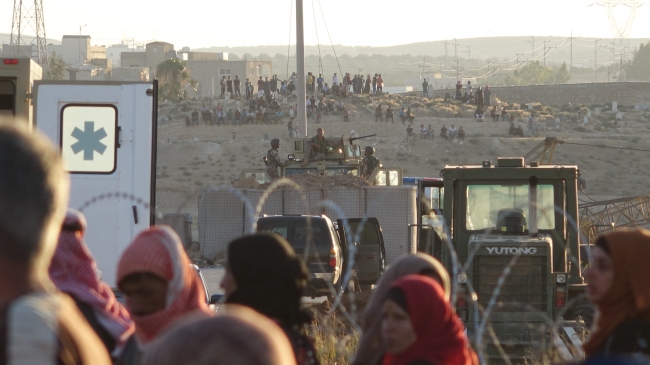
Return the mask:
[[[154,223],[157,81],[42,81],[30,59],[0,58],[0,121],[28,123],[61,149],[69,206],[88,221],[86,243],[115,287],[120,255]]]

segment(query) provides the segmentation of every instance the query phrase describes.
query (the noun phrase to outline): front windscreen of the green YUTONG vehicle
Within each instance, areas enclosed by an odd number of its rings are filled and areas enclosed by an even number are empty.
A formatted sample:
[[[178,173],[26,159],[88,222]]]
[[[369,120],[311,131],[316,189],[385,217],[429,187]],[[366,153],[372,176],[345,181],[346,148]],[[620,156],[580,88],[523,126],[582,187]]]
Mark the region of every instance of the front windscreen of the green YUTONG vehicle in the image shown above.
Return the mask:
[[[496,229],[499,214],[512,210],[521,210],[528,218],[528,189],[528,184],[525,183],[521,185],[468,185],[465,229],[469,231]],[[553,185],[538,185],[537,226],[539,229],[555,228],[554,205]],[[528,229],[527,224],[526,229]]]

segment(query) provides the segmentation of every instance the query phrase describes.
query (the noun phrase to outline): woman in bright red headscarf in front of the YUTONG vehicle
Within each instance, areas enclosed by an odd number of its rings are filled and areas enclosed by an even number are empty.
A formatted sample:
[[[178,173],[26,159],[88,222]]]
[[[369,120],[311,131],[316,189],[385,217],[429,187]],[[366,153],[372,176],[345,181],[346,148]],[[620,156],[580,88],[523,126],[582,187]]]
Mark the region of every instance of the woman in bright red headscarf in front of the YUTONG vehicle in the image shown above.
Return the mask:
[[[436,281],[405,276],[393,284],[382,306],[383,365],[474,365],[463,325]]]

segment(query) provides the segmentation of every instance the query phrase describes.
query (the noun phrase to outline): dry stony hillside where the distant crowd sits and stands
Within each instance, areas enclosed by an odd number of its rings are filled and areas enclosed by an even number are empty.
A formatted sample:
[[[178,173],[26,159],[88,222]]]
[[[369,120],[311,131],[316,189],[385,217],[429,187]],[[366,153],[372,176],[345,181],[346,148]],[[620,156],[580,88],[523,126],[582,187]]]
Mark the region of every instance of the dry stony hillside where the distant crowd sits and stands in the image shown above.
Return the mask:
[[[375,103],[380,100],[375,99]],[[361,146],[372,145],[376,156],[384,166],[399,166],[404,176],[439,176],[446,164],[475,164],[483,160],[496,162],[499,156],[523,156],[544,137],[553,136],[566,142],[614,146],[636,149],[650,149],[650,120],[645,111],[629,110],[621,124],[613,124],[614,115],[602,113],[592,117],[588,127],[582,128],[575,122],[562,123],[562,129],[545,130],[555,124],[551,122],[557,115],[570,120],[576,110],[586,107],[547,108],[541,106],[536,111],[541,114],[538,123],[542,127],[535,138],[512,138],[508,135],[508,122],[492,122],[486,118],[477,123],[470,116],[472,108],[445,104],[442,100],[424,101],[416,96],[385,96],[384,103],[397,106],[415,107],[418,116],[413,124],[417,133],[420,124],[432,125],[436,138],[406,141],[406,126],[396,116],[395,123],[376,123],[371,110],[372,100],[353,98],[346,100],[352,111],[350,122],[343,122],[340,116],[324,116],[319,127],[326,135],[350,135],[354,130],[360,136],[376,133],[377,136],[357,141]],[[186,101],[188,107],[199,107],[203,101]],[[223,101],[221,101],[223,102]],[[428,106],[425,103],[429,103]],[[216,104],[215,104],[216,105]],[[376,104],[374,104],[376,105]],[[234,102],[226,103],[226,108],[234,108]],[[509,106],[510,109],[515,108]],[[622,108],[622,107],[619,107]],[[591,108],[593,111],[593,108]],[[262,157],[270,148],[271,138],[280,138],[280,155],[289,153],[289,136],[286,118],[278,125],[244,126],[204,126],[186,127],[183,119],[189,111],[181,112],[178,104],[161,106],[163,120],[159,128],[157,202],[156,209],[162,212],[191,212],[197,217],[198,197],[203,188],[214,185],[231,185],[239,178],[245,168],[263,168]],[[527,111],[516,111],[523,116]],[[425,116],[423,116],[425,115]],[[577,118],[576,118],[577,119]],[[466,130],[466,141],[460,145],[448,142],[437,136],[445,124]],[[316,125],[309,126],[313,135]],[[304,131],[304,126],[301,128]],[[303,132],[304,133],[304,132]],[[590,198],[605,200],[611,198],[636,196],[650,193],[650,152],[639,152],[602,147],[577,145],[558,145],[554,163],[577,164],[587,181],[586,192]],[[583,196],[585,200],[589,197]],[[194,225],[196,228],[196,225]],[[196,239],[196,236],[195,236]]]

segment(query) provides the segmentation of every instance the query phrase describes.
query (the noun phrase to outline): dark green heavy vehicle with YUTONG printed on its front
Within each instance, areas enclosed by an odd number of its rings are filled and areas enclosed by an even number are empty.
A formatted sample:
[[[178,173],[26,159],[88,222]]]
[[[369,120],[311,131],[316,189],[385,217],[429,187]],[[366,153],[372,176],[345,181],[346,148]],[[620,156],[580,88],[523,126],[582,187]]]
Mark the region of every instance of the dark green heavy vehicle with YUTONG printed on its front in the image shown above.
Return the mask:
[[[418,224],[411,228],[418,250],[458,273],[456,310],[473,343],[486,350],[484,361],[501,357],[497,341],[477,333],[485,324],[516,361],[548,336],[558,338],[549,318],[561,318],[566,332],[579,327],[570,322],[578,316],[591,318],[580,296],[587,255],[579,240],[577,166],[499,158],[445,166],[442,176],[418,182]],[[455,267],[446,235],[466,271]]]

